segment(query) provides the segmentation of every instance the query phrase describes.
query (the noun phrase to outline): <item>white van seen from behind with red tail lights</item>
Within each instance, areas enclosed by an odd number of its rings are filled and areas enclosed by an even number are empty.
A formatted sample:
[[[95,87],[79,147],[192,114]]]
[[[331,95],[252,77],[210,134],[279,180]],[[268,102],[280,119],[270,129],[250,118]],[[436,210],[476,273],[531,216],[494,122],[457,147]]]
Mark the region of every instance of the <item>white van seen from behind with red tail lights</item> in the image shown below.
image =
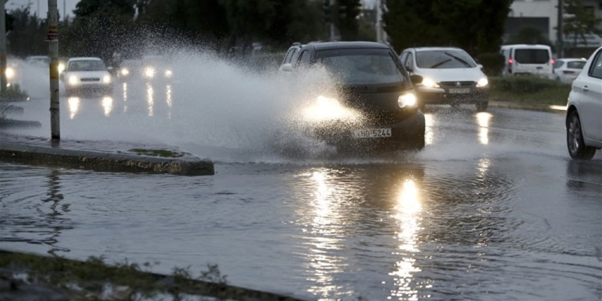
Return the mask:
[[[533,74],[552,78],[554,58],[548,45],[503,45],[501,54],[504,55],[502,75]]]

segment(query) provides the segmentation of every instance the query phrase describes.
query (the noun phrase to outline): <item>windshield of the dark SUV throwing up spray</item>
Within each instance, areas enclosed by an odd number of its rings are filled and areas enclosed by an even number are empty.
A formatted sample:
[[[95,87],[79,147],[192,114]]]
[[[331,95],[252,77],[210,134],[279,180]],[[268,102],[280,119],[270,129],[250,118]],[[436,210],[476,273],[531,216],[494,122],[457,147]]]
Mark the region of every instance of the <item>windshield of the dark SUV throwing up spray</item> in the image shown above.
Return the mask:
[[[406,76],[388,49],[329,49],[317,51],[316,63],[348,85],[395,84]]]

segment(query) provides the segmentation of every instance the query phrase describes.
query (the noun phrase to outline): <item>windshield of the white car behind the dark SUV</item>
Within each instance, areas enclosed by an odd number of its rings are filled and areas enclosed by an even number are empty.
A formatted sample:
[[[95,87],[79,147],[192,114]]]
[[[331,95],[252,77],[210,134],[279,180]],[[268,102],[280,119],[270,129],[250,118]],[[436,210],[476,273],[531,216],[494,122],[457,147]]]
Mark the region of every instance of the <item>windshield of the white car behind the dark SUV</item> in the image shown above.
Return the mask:
[[[474,68],[473,58],[459,49],[416,52],[416,66],[425,69]]]

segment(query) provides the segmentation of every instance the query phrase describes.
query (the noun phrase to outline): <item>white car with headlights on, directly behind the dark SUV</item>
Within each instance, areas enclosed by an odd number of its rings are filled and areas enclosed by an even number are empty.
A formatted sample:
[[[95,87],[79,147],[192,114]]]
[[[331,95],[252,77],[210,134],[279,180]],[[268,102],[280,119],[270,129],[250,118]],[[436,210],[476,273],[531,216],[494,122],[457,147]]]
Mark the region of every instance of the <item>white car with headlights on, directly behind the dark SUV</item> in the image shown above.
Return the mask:
[[[400,55],[410,75],[420,75],[418,100],[425,104],[475,104],[487,109],[489,82],[479,64],[466,51],[454,47],[405,49]]]

